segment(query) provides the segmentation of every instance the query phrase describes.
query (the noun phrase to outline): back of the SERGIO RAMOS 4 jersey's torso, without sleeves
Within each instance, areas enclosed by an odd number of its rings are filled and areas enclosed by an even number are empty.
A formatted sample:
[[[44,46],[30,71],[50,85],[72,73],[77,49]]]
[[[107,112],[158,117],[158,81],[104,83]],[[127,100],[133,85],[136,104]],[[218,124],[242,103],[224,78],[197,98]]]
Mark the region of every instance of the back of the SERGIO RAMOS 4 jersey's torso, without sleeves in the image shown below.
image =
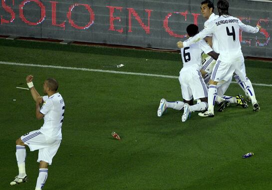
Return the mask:
[[[221,15],[213,22],[216,27],[214,35],[218,40],[219,59],[232,61],[243,56],[239,40],[239,22],[241,21],[233,16]]]

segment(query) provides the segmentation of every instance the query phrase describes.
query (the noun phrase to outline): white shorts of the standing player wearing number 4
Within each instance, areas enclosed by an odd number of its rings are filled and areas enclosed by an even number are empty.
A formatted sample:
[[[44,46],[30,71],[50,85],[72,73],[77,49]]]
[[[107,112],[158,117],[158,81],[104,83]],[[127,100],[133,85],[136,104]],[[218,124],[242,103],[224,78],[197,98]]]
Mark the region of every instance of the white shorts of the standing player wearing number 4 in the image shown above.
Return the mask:
[[[233,62],[223,62],[217,60],[216,65],[214,66],[211,80],[219,82],[221,80],[228,81],[232,78],[233,73],[236,73],[242,81],[246,80],[246,67],[245,59],[243,56],[237,58]]]

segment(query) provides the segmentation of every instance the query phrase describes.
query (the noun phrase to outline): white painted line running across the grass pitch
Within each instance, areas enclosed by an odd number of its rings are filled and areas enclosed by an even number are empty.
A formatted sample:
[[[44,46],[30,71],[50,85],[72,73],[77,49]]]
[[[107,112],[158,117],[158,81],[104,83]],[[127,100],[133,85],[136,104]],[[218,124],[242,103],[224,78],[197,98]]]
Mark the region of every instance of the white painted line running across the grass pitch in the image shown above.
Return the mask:
[[[54,66],[54,65],[36,65],[36,64],[13,63],[13,62],[3,62],[3,61],[0,61],[0,64],[28,66],[28,67],[44,67],[44,68],[55,68],[55,69],[81,70],[81,71],[104,72],[104,73],[115,73],[115,74],[153,76],[153,77],[161,77],[161,78],[175,78],[175,79],[179,78],[178,76],[171,76],[171,75],[159,75],[159,74],[149,74],[149,73],[133,73],[133,72],[123,72],[123,71],[102,70],[102,69],[63,67],[63,66]],[[232,81],[232,83],[236,83],[236,82]],[[272,84],[260,84],[260,83],[252,83],[252,84],[256,85],[256,86],[269,86],[269,87],[272,87]]]

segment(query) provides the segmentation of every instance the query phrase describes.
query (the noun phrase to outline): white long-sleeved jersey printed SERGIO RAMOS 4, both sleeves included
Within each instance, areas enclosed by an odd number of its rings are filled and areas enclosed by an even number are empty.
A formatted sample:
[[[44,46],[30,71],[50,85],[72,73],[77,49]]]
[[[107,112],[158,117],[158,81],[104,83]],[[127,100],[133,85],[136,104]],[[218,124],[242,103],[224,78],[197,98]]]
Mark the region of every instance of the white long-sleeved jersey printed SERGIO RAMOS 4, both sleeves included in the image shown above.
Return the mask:
[[[206,28],[189,40],[183,42],[184,47],[198,42],[209,34],[213,34],[218,40],[219,59],[223,62],[236,61],[238,57],[243,56],[239,40],[239,29],[249,33],[257,33],[258,27],[252,27],[241,22],[240,19],[221,15],[218,19],[212,20]]]

